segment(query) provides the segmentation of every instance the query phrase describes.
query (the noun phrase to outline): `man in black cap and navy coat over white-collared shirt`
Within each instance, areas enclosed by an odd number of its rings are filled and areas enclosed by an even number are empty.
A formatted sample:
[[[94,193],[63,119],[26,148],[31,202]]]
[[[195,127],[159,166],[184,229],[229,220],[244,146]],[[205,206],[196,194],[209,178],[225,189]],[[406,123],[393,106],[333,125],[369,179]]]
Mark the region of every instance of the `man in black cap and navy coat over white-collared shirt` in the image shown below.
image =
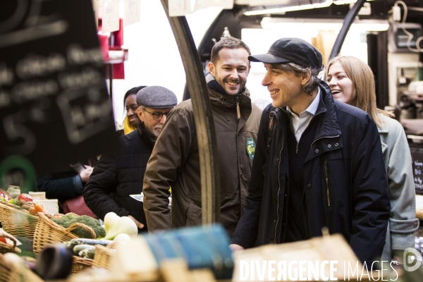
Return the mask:
[[[249,56],[266,68],[273,100],[262,113],[244,214],[233,250],[341,233],[362,262],[380,257],[389,196],[376,124],[334,101],[317,75],[321,54],[298,38]]]

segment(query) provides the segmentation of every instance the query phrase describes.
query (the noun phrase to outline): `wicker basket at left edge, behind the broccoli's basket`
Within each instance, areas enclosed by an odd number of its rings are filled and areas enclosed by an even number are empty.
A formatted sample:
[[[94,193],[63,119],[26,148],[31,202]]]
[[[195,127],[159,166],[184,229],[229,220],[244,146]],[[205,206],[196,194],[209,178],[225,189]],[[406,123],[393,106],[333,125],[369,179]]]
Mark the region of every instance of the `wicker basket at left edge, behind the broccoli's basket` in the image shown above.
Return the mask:
[[[0,203],[0,220],[4,231],[13,236],[34,238],[38,216],[21,212],[15,204]]]

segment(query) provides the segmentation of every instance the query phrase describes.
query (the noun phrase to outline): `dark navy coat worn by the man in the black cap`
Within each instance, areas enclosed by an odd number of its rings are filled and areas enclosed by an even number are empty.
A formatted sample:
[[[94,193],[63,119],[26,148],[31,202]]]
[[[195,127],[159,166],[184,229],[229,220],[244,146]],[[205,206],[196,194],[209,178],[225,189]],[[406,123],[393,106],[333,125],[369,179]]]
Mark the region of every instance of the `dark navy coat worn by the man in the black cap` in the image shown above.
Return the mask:
[[[344,235],[362,262],[371,261],[384,248],[390,210],[379,133],[368,114],[333,101],[326,83],[319,87],[318,128],[304,163],[308,237],[320,236],[327,226],[329,233]],[[286,234],[287,151],[295,148],[286,146],[291,130],[286,108],[276,109],[266,154],[270,110],[262,114],[247,204],[232,238],[243,247],[280,243]]]

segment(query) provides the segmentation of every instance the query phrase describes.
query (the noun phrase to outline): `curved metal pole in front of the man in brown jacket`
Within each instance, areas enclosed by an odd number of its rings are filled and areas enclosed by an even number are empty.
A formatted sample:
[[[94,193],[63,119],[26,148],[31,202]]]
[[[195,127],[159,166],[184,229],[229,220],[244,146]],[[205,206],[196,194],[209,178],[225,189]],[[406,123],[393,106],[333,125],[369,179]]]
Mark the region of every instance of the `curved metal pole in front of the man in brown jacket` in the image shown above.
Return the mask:
[[[200,151],[200,172],[202,192],[202,223],[219,222],[220,219],[220,174],[217,157],[216,130],[212,116],[206,80],[200,56],[186,18],[169,17],[168,0],[161,0],[166,16],[185,68],[188,90],[191,94]]]

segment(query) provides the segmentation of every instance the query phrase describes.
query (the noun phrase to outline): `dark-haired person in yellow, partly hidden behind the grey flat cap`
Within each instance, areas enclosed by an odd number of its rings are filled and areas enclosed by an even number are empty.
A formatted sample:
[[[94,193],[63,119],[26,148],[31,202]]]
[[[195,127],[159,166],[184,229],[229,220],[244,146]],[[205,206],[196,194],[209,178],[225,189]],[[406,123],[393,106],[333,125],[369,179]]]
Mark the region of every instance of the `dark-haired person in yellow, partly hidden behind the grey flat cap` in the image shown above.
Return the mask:
[[[138,91],[145,87],[146,86],[133,87],[128,90],[128,92],[125,93],[125,97],[123,97],[123,106],[125,106],[126,109],[126,117],[125,120],[123,120],[123,133],[125,135],[136,130],[140,124],[140,118],[138,118],[137,115],[138,105],[136,97]]]

